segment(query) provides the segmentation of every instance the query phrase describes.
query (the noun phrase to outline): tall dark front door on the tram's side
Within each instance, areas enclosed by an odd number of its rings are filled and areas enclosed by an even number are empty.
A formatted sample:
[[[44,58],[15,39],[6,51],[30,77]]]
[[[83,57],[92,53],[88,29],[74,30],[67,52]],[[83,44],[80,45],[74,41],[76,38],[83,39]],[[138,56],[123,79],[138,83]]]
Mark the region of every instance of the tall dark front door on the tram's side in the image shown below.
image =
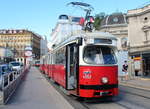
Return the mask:
[[[67,46],[67,89],[77,88],[78,48],[76,44]]]

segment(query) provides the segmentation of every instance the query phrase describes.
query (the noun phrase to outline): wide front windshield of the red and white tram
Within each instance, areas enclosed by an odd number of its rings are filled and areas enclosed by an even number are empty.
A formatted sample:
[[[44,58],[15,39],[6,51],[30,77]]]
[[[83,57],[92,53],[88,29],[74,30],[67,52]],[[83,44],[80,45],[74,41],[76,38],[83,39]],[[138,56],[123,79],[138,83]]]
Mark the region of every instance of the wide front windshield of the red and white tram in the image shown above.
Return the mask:
[[[87,64],[116,64],[114,50],[107,46],[87,46],[83,60]]]

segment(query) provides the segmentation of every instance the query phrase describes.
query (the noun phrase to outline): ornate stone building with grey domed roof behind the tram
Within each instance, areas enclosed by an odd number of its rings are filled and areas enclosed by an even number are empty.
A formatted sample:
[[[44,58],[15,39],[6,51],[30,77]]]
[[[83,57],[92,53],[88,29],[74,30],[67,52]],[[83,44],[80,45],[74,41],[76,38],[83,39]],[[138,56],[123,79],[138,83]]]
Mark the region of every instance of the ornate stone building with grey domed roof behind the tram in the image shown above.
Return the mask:
[[[106,16],[100,27],[100,31],[109,32],[118,39],[118,50],[127,50],[128,24],[126,14],[114,13]]]

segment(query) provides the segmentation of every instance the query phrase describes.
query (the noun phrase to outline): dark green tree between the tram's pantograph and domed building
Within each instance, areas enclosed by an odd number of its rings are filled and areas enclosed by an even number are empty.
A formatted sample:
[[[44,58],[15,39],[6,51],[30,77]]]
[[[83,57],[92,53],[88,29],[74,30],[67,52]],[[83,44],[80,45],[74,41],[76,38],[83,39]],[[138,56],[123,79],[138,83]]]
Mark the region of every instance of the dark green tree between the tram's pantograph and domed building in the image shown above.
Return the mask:
[[[100,29],[101,22],[105,17],[106,17],[106,14],[104,12],[101,12],[95,15],[95,22],[94,22],[95,30]]]

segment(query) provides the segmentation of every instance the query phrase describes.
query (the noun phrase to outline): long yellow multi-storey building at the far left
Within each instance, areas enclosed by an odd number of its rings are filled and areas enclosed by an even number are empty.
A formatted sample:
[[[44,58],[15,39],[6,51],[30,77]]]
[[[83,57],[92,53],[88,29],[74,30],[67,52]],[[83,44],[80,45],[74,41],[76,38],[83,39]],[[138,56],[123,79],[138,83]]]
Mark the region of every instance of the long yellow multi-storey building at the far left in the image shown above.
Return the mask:
[[[29,30],[0,30],[0,46],[9,47],[17,61],[24,60],[26,46],[32,47],[34,58],[40,58],[41,37]]]

